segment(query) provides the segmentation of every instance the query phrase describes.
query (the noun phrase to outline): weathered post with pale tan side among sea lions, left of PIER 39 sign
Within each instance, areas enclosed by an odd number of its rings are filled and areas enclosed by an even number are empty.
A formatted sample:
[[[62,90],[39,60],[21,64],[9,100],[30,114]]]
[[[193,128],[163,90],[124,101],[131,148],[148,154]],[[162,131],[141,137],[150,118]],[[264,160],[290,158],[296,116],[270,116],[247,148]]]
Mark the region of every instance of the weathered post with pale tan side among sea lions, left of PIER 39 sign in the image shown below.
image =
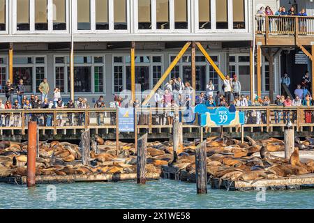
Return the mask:
[[[176,116],[174,116],[174,122],[172,125],[172,135],[173,135],[173,161],[177,162],[177,151],[183,146],[183,135],[182,135],[182,123],[179,121],[179,114],[176,110]]]

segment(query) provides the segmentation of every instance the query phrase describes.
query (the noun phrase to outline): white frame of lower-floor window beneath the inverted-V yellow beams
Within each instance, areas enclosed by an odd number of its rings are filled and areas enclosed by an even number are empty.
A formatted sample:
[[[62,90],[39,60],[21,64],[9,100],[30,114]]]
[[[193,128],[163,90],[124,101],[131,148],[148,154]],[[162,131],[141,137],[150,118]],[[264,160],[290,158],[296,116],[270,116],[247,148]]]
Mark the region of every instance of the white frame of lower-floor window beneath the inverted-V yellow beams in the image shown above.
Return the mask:
[[[172,62],[171,61],[171,57],[172,56],[177,56],[177,54],[169,54],[169,65],[170,63]],[[184,56],[191,56],[191,54],[184,54]],[[204,56],[202,53],[197,53],[195,54],[195,56]],[[220,57],[220,54],[219,53],[213,53],[213,54],[210,54],[210,56],[217,56],[217,59],[218,59],[218,62],[214,61],[216,63],[216,65],[218,66],[218,68],[221,69],[221,57]],[[183,60],[183,57],[179,60],[179,62],[177,63],[176,66],[179,66],[179,77],[181,78],[181,80],[183,81],[183,66],[191,66],[191,62],[184,62],[182,61]],[[195,62],[195,66],[206,66],[206,83],[209,82],[209,68],[210,68],[210,63],[205,59],[204,62]],[[220,81],[220,78],[217,76],[218,78],[218,89],[220,89],[220,85],[221,85],[221,81]],[[167,78],[167,81],[170,81],[171,79],[171,73],[169,75],[169,77]],[[190,83],[192,85],[192,83]],[[217,90],[218,91],[218,90]],[[195,91],[196,93],[201,93],[201,92],[204,92],[204,91]]]

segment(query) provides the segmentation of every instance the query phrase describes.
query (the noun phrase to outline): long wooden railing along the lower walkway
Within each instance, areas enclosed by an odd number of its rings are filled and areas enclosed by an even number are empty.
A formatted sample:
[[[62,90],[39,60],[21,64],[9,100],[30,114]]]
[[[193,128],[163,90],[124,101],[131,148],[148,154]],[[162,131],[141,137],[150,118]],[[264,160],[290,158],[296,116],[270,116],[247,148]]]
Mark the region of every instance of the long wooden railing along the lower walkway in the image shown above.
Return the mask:
[[[285,127],[287,116],[292,121],[295,130],[302,131],[304,127],[313,130],[314,107],[238,107],[241,112],[246,113],[244,128],[253,132],[254,128],[259,131],[272,132],[273,128]],[[136,109],[136,128],[138,131],[162,132],[172,128],[172,114],[184,112],[184,109],[154,107]],[[278,121],[278,116],[281,116]],[[50,130],[52,134],[66,134],[66,130],[109,130],[115,132],[117,129],[117,109],[32,109],[32,110],[0,110],[2,119],[0,134],[3,130],[11,131],[12,134],[25,134],[29,120],[38,121],[39,130]],[[184,119],[183,119],[184,120]],[[286,120],[287,121],[287,120]],[[184,123],[184,128],[199,128],[197,123]],[[241,126],[228,126],[238,132]],[[214,127],[217,128],[217,127]],[[213,128],[207,128],[211,131]],[[19,130],[19,131],[16,131]],[[62,132],[63,130],[63,132]],[[153,131],[154,130],[154,131]],[[8,134],[8,132],[6,132]]]

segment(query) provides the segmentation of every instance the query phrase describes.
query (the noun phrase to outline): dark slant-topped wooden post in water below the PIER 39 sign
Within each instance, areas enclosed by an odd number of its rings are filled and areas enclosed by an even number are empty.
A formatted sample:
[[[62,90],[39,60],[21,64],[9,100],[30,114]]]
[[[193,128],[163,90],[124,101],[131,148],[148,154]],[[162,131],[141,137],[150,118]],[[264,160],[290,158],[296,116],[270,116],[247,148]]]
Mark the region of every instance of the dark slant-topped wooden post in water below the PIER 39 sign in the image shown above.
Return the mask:
[[[195,149],[195,176],[197,194],[207,194],[207,153],[206,140],[202,141]]]

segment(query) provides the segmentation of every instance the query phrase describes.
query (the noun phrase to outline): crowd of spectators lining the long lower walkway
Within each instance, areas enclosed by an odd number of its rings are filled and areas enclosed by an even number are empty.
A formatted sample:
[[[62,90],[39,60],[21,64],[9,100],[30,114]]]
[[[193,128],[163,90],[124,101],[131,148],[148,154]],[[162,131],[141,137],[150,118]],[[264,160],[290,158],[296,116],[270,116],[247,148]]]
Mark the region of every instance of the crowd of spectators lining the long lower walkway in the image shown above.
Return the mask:
[[[290,77],[285,73],[281,79],[281,84],[287,85],[290,88]],[[0,100],[0,109],[85,109],[90,108],[87,98],[78,98],[77,101],[69,100],[64,103],[61,98],[61,91],[58,88],[55,88],[52,95],[52,100],[48,99],[48,93],[50,91],[49,84],[47,79],[44,79],[38,87],[40,95],[30,95],[30,98],[27,98],[24,95],[24,84],[23,80],[20,80],[20,83],[17,86],[13,86],[10,80],[8,80],[6,86],[4,87],[6,92],[6,102],[3,103]],[[158,89],[156,91],[154,98],[151,99],[146,107],[155,107],[156,112],[154,116],[156,117],[156,123],[159,125],[165,125],[166,123],[171,125],[174,118],[174,109],[179,107],[190,107],[192,105],[204,104],[207,107],[229,107],[232,110],[241,109],[241,107],[250,107],[250,106],[269,106],[276,105],[278,107],[299,107],[299,106],[312,106],[313,99],[310,93],[311,89],[311,79],[308,72],[302,77],[301,83],[297,85],[297,89],[294,91],[294,98],[290,98],[289,95],[277,95],[276,100],[271,102],[268,96],[263,98],[255,96],[253,100],[248,95],[241,94],[241,82],[239,82],[237,75],[233,75],[231,78],[229,75],[226,75],[222,91],[217,91],[216,86],[210,80],[207,83],[206,91],[195,94],[195,91],[190,86],[189,82],[182,82],[180,78],[172,78],[167,82],[163,89]],[[17,94],[17,100],[13,101],[13,94]],[[128,100],[128,97],[122,98],[121,95],[114,95],[114,100],[109,103],[110,108],[117,107],[142,107],[142,102],[147,99],[147,95],[144,99],[135,101]],[[105,108],[105,100],[103,96],[100,96],[94,104],[94,108]],[[283,122],[296,121],[297,112],[289,111],[287,109],[276,109],[274,111],[275,122],[280,123],[283,119]],[[13,118],[11,118],[13,116]],[[147,122],[148,114],[143,114],[141,117],[144,117],[144,123]],[[310,114],[308,114],[310,116]],[[64,121],[65,117],[68,119]],[[10,122],[13,122],[12,126],[18,126],[20,123],[21,113],[20,112],[8,112],[0,114],[0,126],[6,125],[10,126]],[[106,112],[99,112],[96,115],[97,125],[102,124],[103,118],[107,118]],[[52,126],[53,114],[31,114],[30,112],[25,113],[25,123],[27,124],[29,120],[38,121],[40,125],[43,126]],[[308,117],[308,120],[311,118]],[[146,120],[146,121],[145,121]],[[64,123],[69,125],[74,125],[76,121],[77,125],[84,125],[85,115],[84,112],[66,113],[57,115],[57,126],[61,126]],[[115,116],[110,114],[110,122],[113,124],[115,121]],[[246,110],[246,123],[267,123],[267,114],[266,111],[255,111],[255,110]]]

